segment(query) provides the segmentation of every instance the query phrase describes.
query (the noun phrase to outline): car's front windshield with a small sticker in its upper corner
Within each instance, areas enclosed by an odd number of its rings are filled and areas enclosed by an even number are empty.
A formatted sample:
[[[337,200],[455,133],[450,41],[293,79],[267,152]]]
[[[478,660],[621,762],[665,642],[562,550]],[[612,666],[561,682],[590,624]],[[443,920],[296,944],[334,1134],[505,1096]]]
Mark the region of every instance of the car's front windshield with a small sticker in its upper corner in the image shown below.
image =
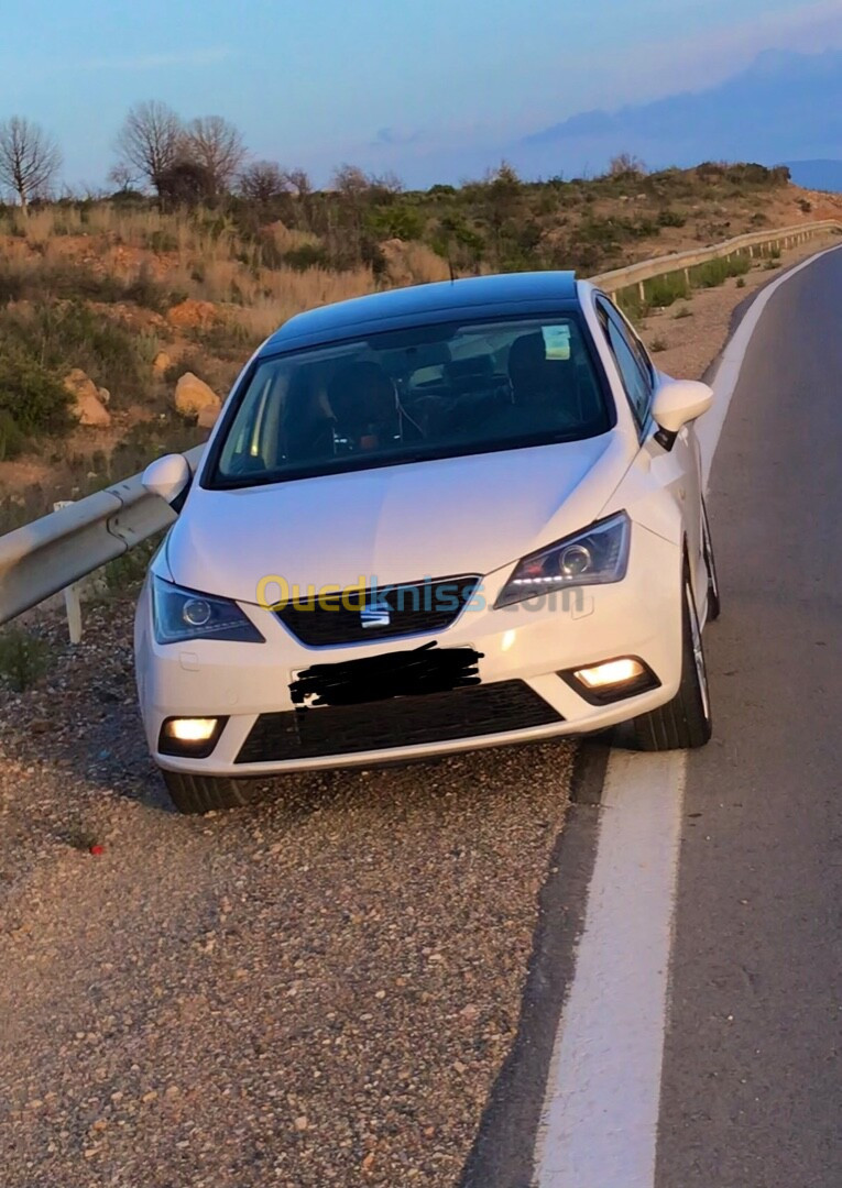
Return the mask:
[[[570,316],[414,327],[262,360],[216,450],[246,486],[605,432]]]

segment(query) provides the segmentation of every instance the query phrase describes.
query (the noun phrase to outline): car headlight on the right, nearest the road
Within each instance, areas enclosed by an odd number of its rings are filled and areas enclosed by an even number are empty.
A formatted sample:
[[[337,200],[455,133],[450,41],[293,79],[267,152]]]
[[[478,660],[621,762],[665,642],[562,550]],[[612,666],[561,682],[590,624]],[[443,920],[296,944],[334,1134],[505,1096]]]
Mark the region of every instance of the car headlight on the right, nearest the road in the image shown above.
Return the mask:
[[[499,592],[496,607],[568,586],[603,586],[626,576],[630,522],[626,512],[523,557]]]

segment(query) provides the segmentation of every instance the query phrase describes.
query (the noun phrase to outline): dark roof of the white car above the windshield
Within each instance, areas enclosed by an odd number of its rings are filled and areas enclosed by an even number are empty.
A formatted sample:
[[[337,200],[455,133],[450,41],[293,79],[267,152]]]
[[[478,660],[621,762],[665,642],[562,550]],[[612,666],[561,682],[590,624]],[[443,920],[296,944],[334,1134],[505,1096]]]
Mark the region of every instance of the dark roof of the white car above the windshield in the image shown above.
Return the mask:
[[[547,311],[548,308],[570,308],[577,299],[573,272],[509,272],[390,289],[297,314],[264,342],[258,355],[321,346],[382,330],[450,322],[454,315],[501,317],[505,314]]]

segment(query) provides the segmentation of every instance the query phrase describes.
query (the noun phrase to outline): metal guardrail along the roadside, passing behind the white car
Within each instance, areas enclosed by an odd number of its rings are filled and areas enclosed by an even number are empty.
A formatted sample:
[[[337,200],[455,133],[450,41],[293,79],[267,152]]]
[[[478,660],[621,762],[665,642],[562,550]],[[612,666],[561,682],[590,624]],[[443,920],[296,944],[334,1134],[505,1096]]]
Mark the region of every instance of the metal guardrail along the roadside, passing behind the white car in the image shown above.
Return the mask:
[[[824,220],[739,235],[712,247],[642,260],[591,279],[609,293],[636,284],[645,297],[646,282],[655,277],[683,270],[689,276],[690,268],[708,260],[741,251],[754,254],[755,248],[766,245],[784,249],[828,232],[842,232],[842,222]],[[197,446],[186,455],[194,472],[202,451],[203,447]],[[174,519],[164,500],[149,494],[140,475],[134,475],[0,536],[0,624],[120,557]]]

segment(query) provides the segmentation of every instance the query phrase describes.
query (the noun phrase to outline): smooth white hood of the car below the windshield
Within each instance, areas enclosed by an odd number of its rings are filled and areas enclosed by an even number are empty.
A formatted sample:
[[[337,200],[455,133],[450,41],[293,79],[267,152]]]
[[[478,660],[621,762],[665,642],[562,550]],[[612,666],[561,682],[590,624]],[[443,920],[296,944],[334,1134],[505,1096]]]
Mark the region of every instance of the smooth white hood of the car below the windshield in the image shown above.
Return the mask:
[[[170,532],[174,580],[256,602],[270,575],[346,587],[486,575],[590,524],[630,462],[617,430],[240,491],[194,487]],[[276,595],[275,595],[276,596]]]

